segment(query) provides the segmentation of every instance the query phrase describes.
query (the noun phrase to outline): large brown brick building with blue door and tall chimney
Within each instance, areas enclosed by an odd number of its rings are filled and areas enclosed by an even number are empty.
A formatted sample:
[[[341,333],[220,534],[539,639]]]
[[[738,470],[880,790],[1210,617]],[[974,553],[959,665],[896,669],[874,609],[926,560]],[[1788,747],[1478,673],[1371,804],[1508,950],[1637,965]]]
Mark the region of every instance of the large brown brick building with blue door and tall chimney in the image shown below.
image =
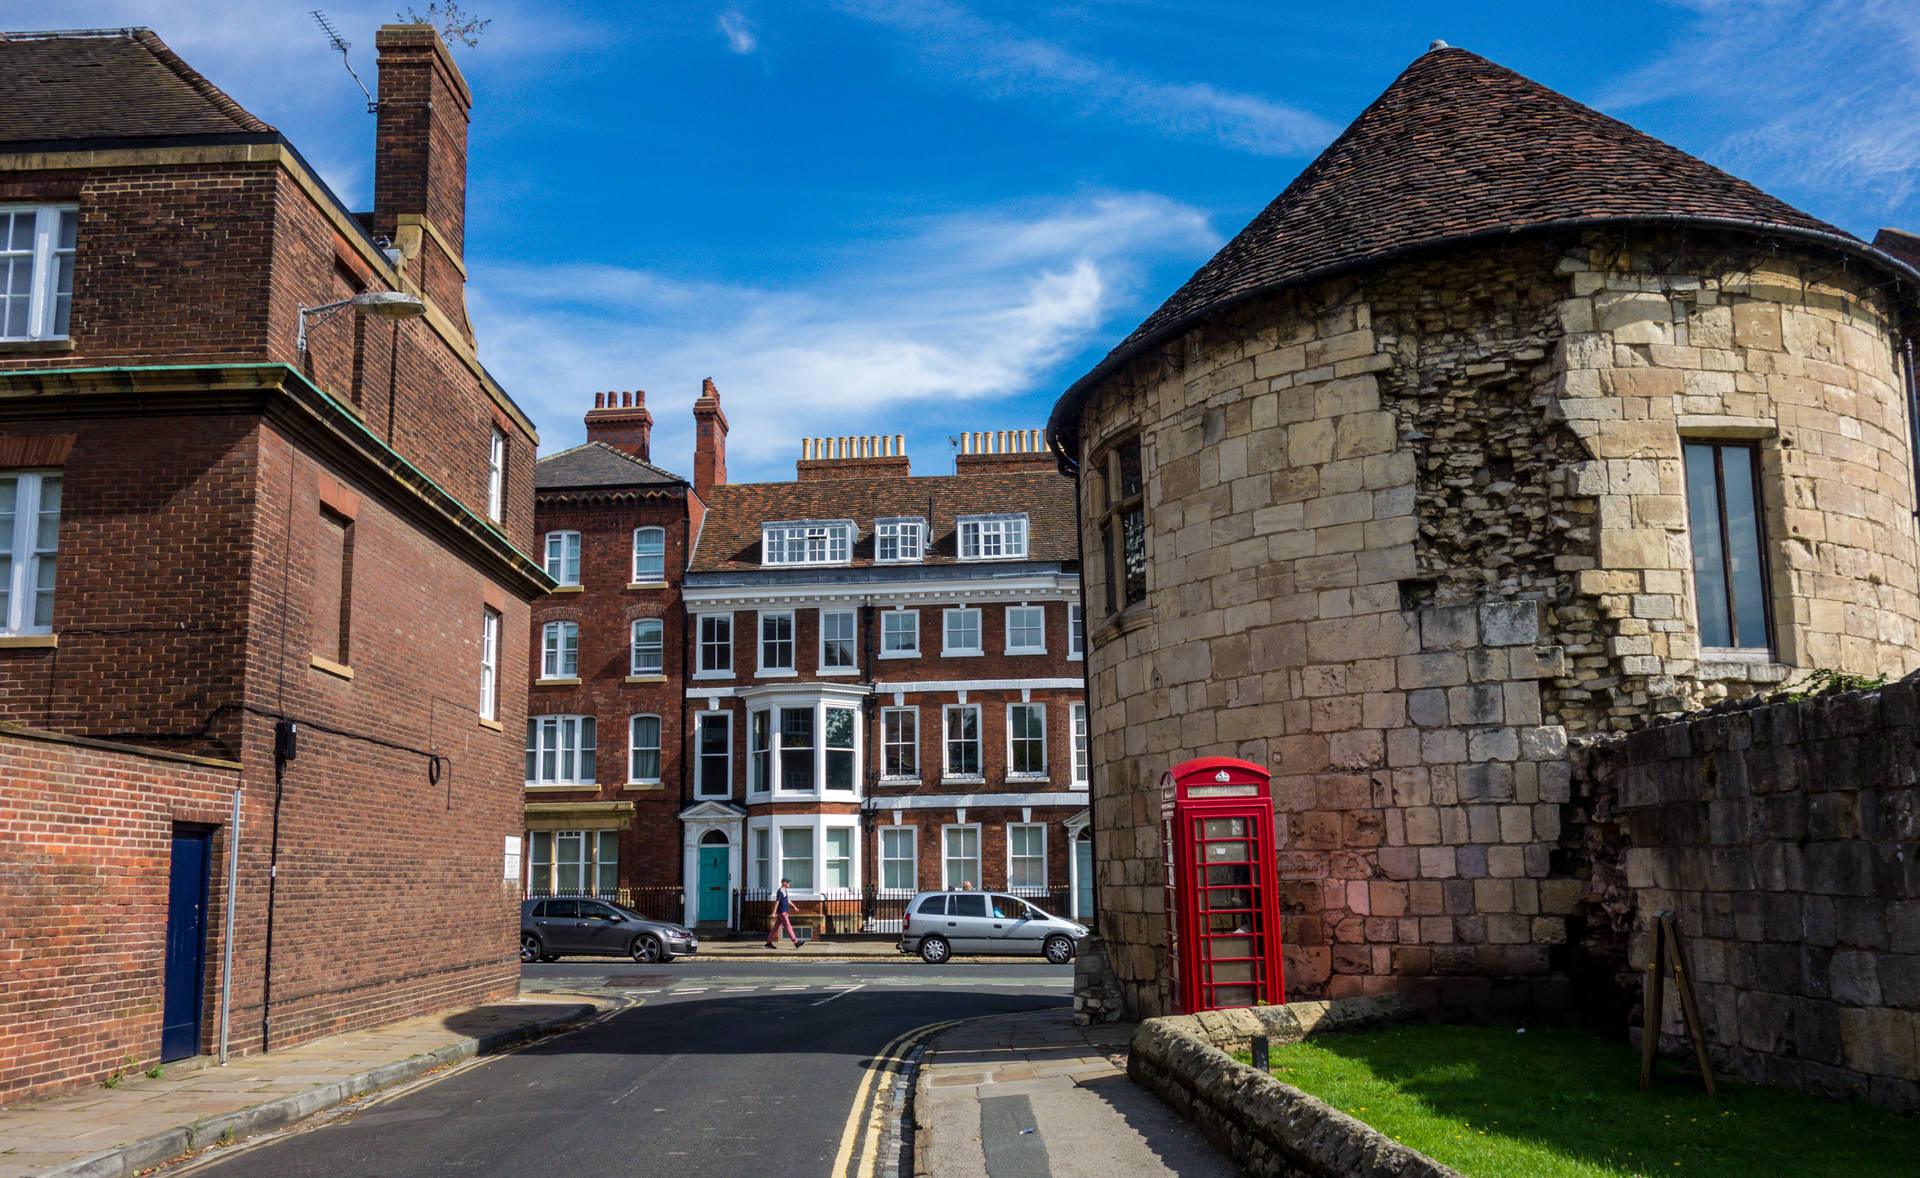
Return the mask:
[[[0,36],[0,1099],[515,990],[536,434],[376,44],[355,215],[154,33]]]

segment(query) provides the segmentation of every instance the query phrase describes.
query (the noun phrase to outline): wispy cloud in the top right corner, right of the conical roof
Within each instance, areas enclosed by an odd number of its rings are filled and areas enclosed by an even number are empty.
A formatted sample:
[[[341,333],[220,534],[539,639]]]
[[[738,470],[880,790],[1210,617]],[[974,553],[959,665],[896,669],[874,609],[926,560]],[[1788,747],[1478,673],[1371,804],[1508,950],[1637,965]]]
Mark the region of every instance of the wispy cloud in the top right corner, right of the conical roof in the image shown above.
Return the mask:
[[[1690,0],[1693,21],[1601,106],[1684,104],[1715,163],[1884,217],[1920,190],[1920,6]],[[1868,230],[1870,232],[1870,230]]]

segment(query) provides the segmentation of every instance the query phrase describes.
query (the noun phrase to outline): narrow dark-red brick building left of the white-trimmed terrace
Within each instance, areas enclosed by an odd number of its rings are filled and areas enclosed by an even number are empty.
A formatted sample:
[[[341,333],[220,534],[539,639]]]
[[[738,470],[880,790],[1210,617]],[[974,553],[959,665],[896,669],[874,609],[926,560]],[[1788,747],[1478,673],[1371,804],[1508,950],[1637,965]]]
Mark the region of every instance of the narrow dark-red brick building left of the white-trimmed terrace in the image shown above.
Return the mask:
[[[645,393],[595,393],[588,441],[540,459],[534,531],[553,597],[532,612],[530,896],[599,894],[680,919],[680,579],[687,480],[651,464]]]

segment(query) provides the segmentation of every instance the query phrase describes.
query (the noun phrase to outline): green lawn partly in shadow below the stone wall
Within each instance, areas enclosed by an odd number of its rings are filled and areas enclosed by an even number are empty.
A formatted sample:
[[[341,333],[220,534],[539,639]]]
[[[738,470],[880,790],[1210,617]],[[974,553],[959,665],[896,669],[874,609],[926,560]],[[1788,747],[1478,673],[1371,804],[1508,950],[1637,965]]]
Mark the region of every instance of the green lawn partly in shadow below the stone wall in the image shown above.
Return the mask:
[[[1244,1061],[1246,1055],[1240,1055]],[[1561,1028],[1394,1026],[1273,1049],[1273,1074],[1473,1178],[1912,1178],[1920,1120],[1720,1080]]]

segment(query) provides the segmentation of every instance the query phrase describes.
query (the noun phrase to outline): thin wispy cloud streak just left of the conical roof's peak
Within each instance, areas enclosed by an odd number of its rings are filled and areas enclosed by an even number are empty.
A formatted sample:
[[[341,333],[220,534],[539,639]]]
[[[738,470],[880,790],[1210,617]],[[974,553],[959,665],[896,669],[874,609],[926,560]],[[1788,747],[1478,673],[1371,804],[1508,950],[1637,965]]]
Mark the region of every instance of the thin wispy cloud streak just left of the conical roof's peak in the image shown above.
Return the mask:
[[[1300,107],[1206,82],[1167,82],[1116,61],[1021,36],[945,0],[843,0],[851,15],[906,36],[922,67],[993,98],[1044,98],[1079,117],[1108,117],[1167,138],[1200,138],[1254,155],[1306,155],[1338,129]]]

